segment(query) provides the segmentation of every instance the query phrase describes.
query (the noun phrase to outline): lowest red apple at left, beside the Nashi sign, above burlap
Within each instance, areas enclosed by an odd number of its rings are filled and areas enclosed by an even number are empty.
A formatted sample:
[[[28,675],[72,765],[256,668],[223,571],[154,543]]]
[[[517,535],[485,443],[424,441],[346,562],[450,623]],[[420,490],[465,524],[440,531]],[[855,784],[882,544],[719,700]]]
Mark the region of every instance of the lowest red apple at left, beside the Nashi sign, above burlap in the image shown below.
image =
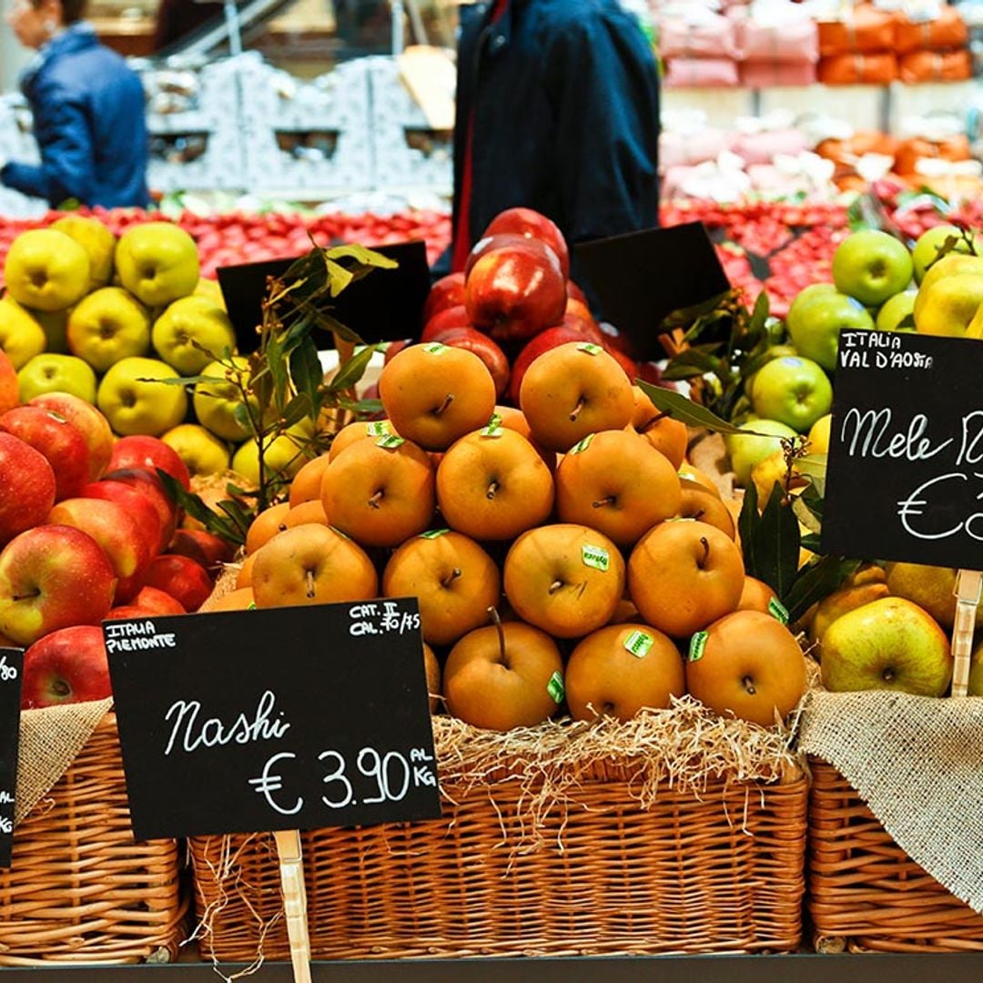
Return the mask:
[[[112,696],[102,629],[60,628],[39,638],[24,654],[21,709],[85,703]]]

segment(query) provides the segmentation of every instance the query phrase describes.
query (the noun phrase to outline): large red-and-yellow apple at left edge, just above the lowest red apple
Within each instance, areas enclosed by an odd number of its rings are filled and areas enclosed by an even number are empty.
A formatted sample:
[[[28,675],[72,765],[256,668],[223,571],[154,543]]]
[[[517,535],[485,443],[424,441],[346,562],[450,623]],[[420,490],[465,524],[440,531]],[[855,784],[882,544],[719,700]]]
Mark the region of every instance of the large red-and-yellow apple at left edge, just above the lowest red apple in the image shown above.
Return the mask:
[[[34,526],[0,550],[0,632],[19,645],[74,624],[98,624],[116,577],[102,548],[72,526]]]

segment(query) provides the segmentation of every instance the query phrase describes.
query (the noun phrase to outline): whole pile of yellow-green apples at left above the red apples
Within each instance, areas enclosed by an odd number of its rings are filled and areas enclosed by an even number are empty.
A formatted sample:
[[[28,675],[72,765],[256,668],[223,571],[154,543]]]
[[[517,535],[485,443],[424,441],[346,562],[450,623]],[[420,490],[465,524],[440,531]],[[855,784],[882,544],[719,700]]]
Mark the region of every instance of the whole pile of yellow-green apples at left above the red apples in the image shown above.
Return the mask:
[[[66,215],[18,236],[3,273],[0,349],[22,402],[69,392],[95,405],[115,434],[160,437],[192,475],[231,467],[257,480],[242,394],[222,364],[245,362],[187,232],[150,221],[117,240],[96,218]],[[179,378],[198,381],[167,381]]]

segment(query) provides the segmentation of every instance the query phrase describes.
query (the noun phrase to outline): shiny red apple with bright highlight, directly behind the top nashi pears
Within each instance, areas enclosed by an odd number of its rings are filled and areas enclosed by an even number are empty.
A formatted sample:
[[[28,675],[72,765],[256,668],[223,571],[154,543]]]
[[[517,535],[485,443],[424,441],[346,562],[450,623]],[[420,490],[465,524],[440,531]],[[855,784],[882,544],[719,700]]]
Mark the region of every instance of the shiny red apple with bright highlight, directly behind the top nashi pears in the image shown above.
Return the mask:
[[[468,275],[465,306],[498,342],[522,342],[563,318],[566,285],[549,247],[535,240],[486,253]]]

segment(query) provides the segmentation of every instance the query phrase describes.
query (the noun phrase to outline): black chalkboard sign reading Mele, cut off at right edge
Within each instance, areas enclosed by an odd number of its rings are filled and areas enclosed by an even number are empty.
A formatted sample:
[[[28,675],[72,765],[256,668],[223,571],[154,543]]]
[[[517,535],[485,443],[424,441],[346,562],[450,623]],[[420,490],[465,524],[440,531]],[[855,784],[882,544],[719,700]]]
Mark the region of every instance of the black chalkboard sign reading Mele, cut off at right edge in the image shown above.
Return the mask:
[[[823,549],[983,570],[983,343],[843,331]]]

